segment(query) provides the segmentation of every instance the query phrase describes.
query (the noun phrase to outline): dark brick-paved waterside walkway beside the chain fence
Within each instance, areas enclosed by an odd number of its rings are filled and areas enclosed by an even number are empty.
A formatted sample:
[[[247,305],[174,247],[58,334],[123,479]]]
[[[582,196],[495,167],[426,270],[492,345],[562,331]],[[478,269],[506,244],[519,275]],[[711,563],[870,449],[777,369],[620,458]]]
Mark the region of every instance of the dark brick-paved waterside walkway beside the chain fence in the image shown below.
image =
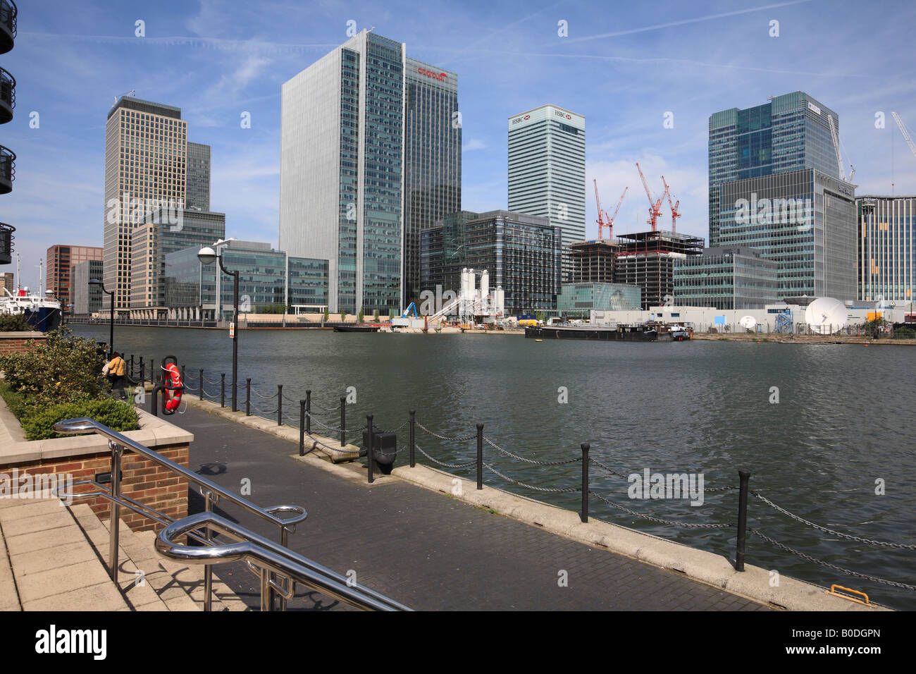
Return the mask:
[[[354,484],[290,458],[298,446],[289,441],[201,409],[169,421],[194,434],[191,470],[236,492],[250,480],[249,498],[261,505],[306,508],[289,547],[340,573],[354,571],[358,583],[417,610],[767,609],[407,482]],[[202,510],[199,496],[191,510]],[[276,537],[276,527],[238,509],[226,514]],[[214,572],[256,605],[249,571],[232,564]],[[328,608],[348,607],[307,592],[289,602],[289,610]]]

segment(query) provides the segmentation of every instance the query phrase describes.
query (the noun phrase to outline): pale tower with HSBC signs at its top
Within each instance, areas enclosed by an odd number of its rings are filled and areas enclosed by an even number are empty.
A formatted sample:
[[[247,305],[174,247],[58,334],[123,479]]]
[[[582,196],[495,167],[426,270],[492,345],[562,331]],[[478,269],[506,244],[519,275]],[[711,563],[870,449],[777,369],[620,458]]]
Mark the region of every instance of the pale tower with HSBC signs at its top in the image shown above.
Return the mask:
[[[585,238],[585,117],[541,105],[508,118],[508,209],[562,228],[567,279],[569,246]]]

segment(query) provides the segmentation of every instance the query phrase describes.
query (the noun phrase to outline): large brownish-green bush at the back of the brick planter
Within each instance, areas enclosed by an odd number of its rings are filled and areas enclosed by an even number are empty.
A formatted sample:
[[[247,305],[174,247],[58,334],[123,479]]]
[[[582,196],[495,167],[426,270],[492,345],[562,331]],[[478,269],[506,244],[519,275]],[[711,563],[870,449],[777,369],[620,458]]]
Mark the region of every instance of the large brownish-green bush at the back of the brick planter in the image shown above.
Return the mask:
[[[0,356],[6,382],[29,405],[98,398],[104,391],[104,354],[93,339],[74,337],[69,328],[60,327],[31,346],[23,353]]]

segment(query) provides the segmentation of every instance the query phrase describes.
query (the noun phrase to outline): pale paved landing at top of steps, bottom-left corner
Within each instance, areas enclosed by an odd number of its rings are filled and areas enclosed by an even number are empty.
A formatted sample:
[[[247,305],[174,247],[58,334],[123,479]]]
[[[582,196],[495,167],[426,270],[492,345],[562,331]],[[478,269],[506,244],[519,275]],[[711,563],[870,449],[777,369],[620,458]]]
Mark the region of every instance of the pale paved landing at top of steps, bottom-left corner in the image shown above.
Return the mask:
[[[0,608],[131,610],[59,499],[0,499],[0,536]]]

